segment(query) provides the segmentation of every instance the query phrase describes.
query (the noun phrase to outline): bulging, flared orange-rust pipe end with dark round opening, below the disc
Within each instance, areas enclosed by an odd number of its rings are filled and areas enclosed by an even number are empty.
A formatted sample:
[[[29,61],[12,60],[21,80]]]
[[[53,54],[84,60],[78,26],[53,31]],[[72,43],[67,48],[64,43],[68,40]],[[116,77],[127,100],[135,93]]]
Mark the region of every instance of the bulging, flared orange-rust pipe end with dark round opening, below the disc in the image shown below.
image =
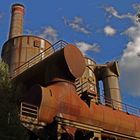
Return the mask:
[[[65,80],[53,81],[48,87],[34,85],[25,100],[39,106],[39,121],[51,123],[56,115],[75,119],[90,116],[87,104],[76,94],[73,83]]]

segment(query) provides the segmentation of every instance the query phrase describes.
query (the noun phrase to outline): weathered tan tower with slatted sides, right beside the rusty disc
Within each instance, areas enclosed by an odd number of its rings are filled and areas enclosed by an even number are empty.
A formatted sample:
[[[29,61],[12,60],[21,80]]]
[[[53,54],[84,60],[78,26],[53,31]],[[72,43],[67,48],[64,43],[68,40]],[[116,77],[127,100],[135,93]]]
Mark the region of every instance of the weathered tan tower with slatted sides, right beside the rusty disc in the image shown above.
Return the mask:
[[[76,79],[76,88],[78,93],[85,91],[97,95],[95,68],[96,62],[85,57],[86,68],[84,74],[79,79]]]

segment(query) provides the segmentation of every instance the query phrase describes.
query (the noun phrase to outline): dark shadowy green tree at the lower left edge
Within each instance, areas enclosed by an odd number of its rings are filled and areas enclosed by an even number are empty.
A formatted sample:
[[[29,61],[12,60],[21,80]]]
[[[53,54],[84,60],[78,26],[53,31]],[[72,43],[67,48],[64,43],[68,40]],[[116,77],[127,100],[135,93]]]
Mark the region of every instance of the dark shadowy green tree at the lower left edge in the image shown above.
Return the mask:
[[[27,140],[19,120],[20,87],[9,78],[8,66],[0,60],[0,140]]]

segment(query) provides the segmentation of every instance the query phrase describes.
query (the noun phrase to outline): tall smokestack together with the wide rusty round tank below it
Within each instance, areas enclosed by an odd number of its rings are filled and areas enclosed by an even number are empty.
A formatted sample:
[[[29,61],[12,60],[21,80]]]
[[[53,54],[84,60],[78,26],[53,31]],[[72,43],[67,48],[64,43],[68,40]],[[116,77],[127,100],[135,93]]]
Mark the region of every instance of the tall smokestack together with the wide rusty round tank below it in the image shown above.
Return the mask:
[[[4,43],[1,53],[2,60],[9,65],[11,77],[23,71],[22,68],[17,68],[51,46],[51,43],[38,36],[23,35],[24,9],[22,4],[12,5],[9,39]],[[47,53],[40,55],[40,60]]]

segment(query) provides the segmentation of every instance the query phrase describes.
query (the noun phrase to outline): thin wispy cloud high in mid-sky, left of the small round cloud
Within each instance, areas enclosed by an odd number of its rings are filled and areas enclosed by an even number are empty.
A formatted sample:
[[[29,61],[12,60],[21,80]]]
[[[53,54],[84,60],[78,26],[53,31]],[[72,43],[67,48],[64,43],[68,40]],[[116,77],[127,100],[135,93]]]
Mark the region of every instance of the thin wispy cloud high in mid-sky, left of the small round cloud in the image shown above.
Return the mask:
[[[84,34],[88,34],[88,35],[91,34],[87,26],[84,25],[82,17],[74,17],[74,19],[71,21],[64,17],[63,20],[64,20],[65,25],[71,27],[73,30],[84,33]]]

